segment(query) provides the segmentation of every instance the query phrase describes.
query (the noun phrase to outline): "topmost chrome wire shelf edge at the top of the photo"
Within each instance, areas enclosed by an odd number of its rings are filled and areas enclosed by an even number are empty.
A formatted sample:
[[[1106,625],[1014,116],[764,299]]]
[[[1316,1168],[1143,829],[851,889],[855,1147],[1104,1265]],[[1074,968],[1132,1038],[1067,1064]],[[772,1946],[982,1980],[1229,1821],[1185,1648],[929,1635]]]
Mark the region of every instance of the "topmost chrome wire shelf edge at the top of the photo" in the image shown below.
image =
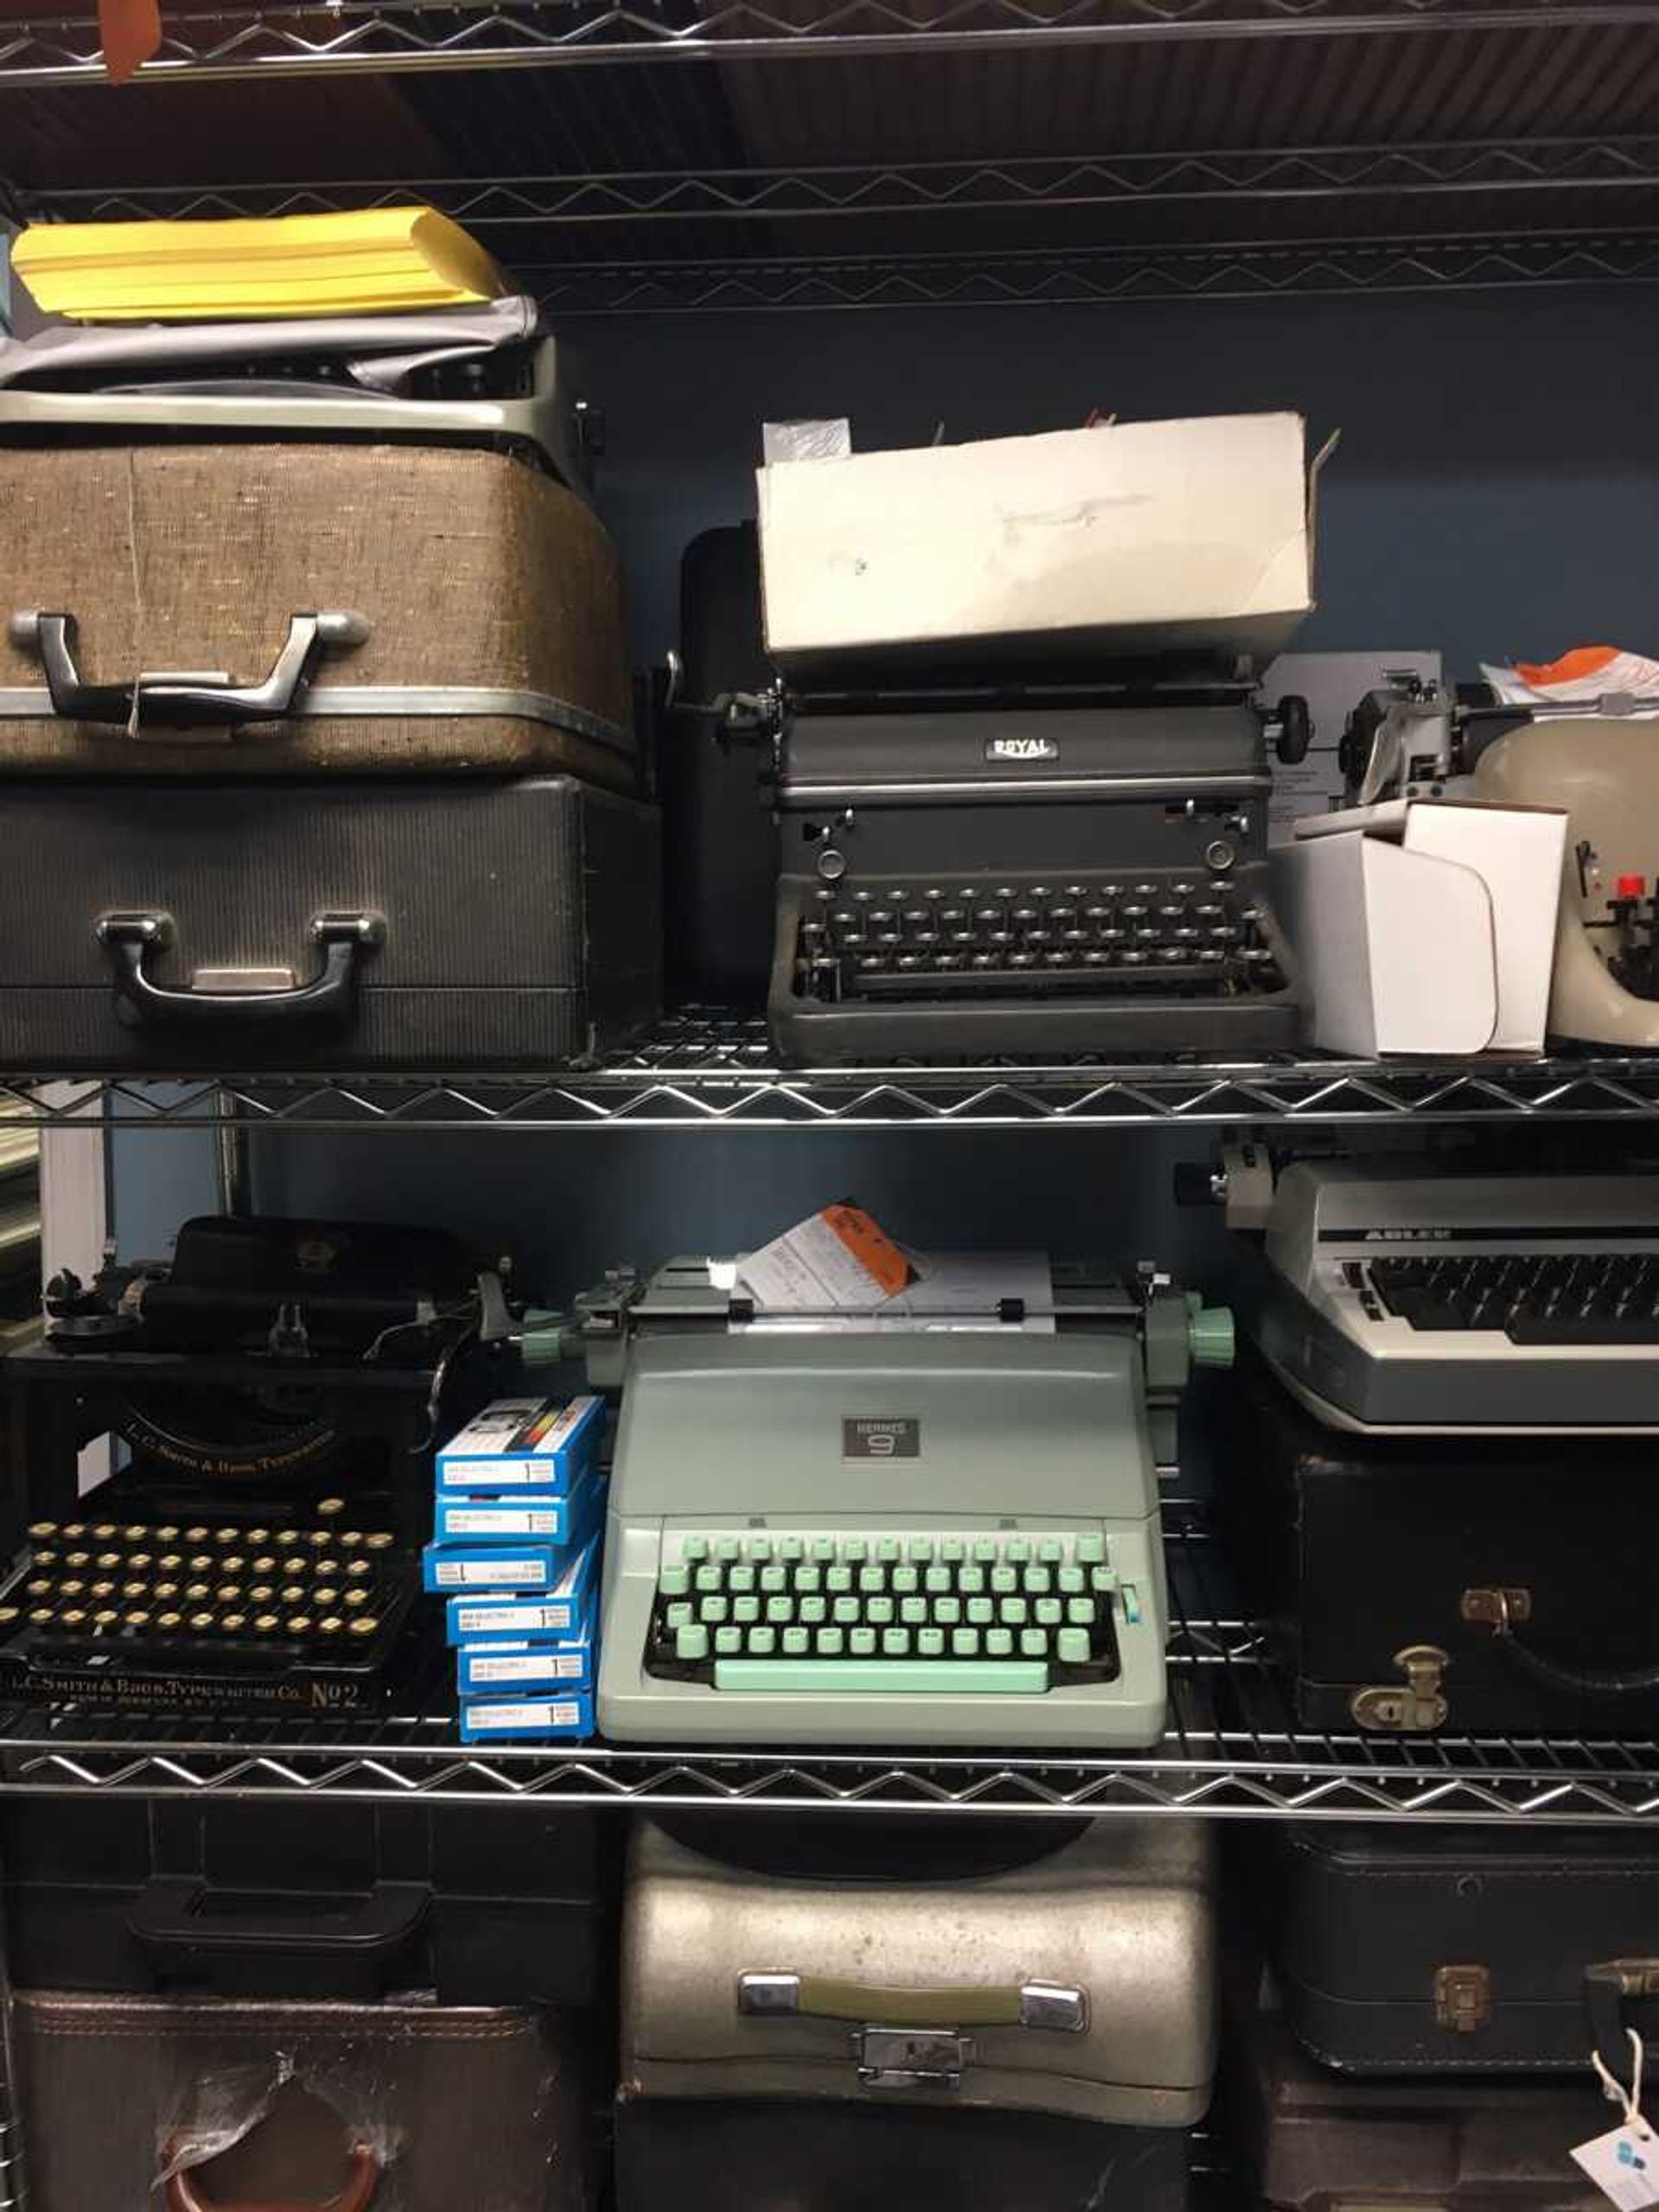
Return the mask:
[[[1018,46],[1113,46],[1436,31],[1621,29],[1659,0],[221,0],[168,13],[139,82],[599,62],[770,62]],[[0,38],[0,86],[100,84],[97,18],[42,15]]]

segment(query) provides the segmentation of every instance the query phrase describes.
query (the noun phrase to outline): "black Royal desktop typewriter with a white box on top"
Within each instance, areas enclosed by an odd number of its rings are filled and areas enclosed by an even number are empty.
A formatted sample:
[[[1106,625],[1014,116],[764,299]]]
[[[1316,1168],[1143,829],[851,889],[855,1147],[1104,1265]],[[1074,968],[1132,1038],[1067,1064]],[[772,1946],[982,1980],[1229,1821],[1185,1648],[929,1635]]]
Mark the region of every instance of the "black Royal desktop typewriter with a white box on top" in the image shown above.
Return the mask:
[[[1239,1055],[1296,1037],[1267,900],[1270,714],[1219,670],[1091,686],[783,690],[768,1020],[796,1062]]]

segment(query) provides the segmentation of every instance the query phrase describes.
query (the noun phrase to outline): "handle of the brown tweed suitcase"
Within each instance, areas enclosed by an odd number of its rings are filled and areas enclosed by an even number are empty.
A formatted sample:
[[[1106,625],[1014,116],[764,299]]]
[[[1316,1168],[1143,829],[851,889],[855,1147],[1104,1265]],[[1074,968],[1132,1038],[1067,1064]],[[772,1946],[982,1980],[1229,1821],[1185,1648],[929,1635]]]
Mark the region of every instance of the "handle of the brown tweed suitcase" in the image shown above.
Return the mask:
[[[263,684],[237,684],[217,670],[157,670],[131,684],[88,684],[75,666],[80,628],[73,615],[20,608],[9,635],[46,670],[51,710],[60,721],[106,723],[142,737],[146,723],[157,730],[223,730],[281,721],[294,712],[323,655],[361,646],[369,624],[354,613],[290,615],[288,641]]]

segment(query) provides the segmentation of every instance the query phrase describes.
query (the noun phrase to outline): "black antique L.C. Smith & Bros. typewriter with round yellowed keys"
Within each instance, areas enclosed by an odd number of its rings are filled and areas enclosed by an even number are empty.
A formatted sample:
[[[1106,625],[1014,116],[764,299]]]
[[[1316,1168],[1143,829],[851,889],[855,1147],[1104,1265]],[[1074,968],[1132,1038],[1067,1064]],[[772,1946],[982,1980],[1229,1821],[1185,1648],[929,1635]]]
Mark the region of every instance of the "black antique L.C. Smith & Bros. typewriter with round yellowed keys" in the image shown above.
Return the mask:
[[[431,1230],[201,1219],[166,1265],[58,1276],[44,1343],[4,1363],[0,1692],[349,1712],[414,1688],[429,1447],[504,1336],[500,1281]],[[117,1471],[82,1498],[97,1438]]]

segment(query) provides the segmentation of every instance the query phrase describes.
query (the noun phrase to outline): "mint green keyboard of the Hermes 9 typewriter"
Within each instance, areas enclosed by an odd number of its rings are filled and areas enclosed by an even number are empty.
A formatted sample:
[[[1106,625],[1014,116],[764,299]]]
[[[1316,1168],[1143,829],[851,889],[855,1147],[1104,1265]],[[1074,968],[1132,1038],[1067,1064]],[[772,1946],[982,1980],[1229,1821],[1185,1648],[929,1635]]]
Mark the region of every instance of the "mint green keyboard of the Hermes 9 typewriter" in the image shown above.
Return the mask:
[[[1095,1531],[664,1535],[646,1672],[714,1690],[1031,1697],[1119,1672],[1141,1617]]]

